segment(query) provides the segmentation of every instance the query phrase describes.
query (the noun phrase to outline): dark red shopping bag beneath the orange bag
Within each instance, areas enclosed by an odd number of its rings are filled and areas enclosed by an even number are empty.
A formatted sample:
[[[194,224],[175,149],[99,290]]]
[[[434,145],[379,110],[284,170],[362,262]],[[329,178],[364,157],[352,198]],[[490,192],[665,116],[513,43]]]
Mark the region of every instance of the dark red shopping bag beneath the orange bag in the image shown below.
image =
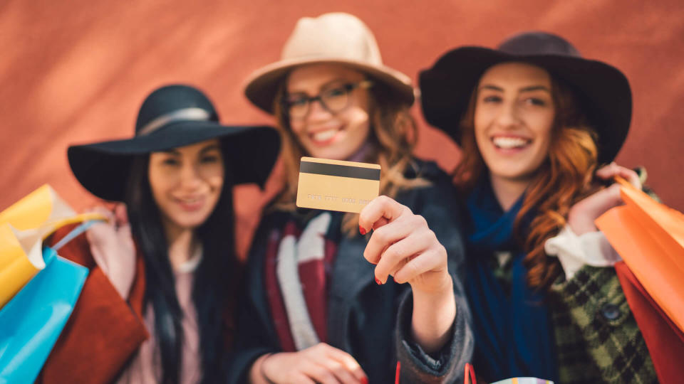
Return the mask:
[[[668,318],[625,262],[615,271],[636,324],[643,335],[660,383],[677,383],[684,378],[684,366],[675,356],[684,356],[684,332]]]

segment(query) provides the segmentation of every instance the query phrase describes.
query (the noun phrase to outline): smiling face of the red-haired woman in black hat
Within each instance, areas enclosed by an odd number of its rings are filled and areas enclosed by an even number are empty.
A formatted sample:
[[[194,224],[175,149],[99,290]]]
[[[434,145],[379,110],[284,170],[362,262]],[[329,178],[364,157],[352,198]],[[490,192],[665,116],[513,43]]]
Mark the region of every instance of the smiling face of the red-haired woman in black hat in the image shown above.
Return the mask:
[[[482,75],[475,141],[493,181],[532,181],[549,153],[555,112],[546,70],[502,63]]]

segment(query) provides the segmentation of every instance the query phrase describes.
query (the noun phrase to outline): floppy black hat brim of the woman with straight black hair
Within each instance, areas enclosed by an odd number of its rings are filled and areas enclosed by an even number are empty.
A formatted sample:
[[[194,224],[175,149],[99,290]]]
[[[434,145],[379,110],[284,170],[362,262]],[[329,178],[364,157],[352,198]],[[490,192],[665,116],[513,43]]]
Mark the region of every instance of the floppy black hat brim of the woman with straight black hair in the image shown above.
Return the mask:
[[[135,156],[218,138],[234,184],[263,187],[278,157],[278,132],[265,126],[222,126],[214,122],[176,122],[145,136],[69,146],[67,156],[76,179],[93,195],[123,201]]]

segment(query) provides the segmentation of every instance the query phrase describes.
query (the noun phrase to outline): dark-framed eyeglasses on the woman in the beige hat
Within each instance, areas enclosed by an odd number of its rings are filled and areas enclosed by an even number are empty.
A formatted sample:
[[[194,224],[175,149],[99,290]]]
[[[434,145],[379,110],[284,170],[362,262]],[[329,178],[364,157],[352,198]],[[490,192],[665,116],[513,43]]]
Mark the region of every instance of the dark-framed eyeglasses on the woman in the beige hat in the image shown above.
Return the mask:
[[[318,100],[321,102],[321,107],[331,114],[342,112],[349,106],[351,100],[351,91],[356,88],[368,88],[373,85],[371,80],[363,80],[360,82],[350,82],[347,84],[333,84],[330,85],[316,96],[306,95],[304,92],[291,93],[283,100],[283,107],[287,111],[289,117],[293,119],[304,119],[309,114],[309,109],[312,102]]]

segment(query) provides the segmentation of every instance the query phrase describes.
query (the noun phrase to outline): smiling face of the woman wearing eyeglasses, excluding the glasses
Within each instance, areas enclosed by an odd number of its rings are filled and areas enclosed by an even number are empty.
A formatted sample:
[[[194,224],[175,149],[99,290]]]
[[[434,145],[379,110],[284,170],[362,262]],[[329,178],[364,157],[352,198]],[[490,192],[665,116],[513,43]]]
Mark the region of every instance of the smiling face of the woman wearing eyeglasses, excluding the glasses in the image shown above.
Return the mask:
[[[306,65],[293,70],[286,82],[286,100],[290,103],[302,97],[327,94],[333,98],[346,95],[346,107],[333,112],[320,100],[309,102],[303,117],[289,118],[290,128],[310,156],[345,160],[358,151],[370,132],[368,90],[350,85],[363,82],[362,73],[336,64]],[[333,100],[334,102],[334,100]]]

